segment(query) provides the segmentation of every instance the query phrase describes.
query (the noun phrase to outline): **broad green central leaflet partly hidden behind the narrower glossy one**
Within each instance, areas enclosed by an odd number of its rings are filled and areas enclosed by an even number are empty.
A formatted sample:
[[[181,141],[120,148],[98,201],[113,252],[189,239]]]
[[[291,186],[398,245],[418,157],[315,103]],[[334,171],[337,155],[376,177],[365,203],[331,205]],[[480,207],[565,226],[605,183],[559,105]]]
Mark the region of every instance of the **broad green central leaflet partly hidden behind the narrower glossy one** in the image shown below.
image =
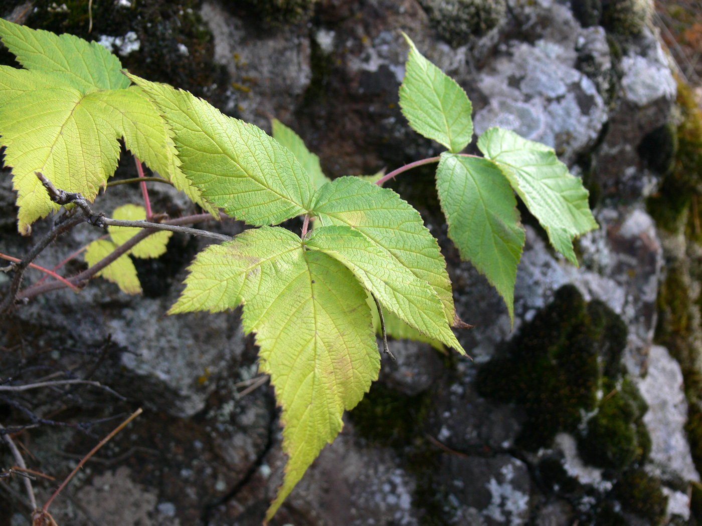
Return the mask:
[[[322,226],[345,224],[357,229],[429,283],[442,301],[446,321],[456,324],[451,281],[439,244],[417,210],[394,191],[358,177],[339,177],[319,190],[313,213]]]

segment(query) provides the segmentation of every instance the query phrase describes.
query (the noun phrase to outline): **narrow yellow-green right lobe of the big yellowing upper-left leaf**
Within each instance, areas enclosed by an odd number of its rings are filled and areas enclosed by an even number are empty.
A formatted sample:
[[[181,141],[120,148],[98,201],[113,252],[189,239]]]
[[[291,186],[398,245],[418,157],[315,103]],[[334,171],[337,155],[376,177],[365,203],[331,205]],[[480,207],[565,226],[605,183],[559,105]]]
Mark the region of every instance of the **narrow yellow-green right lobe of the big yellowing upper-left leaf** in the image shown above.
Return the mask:
[[[158,175],[171,181],[176,189],[184,191],[191,201],[219,217],[213,205],[201,196],[200,189],[180,170],[171,129],[139,86],[102,92],[100,103],[105,120],[117,135],[124,137],[127,149]]]

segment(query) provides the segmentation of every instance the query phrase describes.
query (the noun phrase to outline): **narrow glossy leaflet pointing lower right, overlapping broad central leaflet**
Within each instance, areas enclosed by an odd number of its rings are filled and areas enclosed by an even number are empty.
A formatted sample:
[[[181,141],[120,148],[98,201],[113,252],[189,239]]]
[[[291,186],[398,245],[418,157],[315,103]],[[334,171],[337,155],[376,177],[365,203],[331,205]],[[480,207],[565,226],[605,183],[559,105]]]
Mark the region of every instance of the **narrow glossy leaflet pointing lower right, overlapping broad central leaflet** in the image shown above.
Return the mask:
[[[338,225],[320,227],[314,229],[305,245],[345,264],[385,309],[405,323],[428,337],[461,348],[446,323],[436,292],[360,231]]]

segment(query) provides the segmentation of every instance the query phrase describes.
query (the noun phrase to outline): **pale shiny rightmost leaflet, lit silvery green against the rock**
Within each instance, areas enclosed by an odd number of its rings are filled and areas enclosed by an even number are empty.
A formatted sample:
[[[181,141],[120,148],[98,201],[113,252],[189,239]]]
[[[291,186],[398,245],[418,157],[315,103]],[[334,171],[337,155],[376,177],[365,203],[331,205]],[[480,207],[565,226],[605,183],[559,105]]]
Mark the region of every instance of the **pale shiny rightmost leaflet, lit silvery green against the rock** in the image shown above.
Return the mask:
[[[546,229],[553,247],[577,265],[573,239],[598,228],[581,180],[568,172],[553,149],[510,130],[486,130],[478,147],[496,161],[512,188]]]

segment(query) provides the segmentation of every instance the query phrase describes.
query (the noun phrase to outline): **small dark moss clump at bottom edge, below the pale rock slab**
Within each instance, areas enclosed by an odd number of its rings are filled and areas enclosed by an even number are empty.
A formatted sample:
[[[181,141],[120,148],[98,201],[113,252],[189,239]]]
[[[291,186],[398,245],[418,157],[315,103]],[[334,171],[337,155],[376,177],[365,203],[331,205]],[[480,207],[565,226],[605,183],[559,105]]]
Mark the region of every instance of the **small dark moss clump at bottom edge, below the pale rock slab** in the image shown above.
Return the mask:
[[[614,485],[613,492],[625,510],[646,518],[652,526],[663,522],[668,497],[661,490],[661,481],[643,469],[626,471]]]

